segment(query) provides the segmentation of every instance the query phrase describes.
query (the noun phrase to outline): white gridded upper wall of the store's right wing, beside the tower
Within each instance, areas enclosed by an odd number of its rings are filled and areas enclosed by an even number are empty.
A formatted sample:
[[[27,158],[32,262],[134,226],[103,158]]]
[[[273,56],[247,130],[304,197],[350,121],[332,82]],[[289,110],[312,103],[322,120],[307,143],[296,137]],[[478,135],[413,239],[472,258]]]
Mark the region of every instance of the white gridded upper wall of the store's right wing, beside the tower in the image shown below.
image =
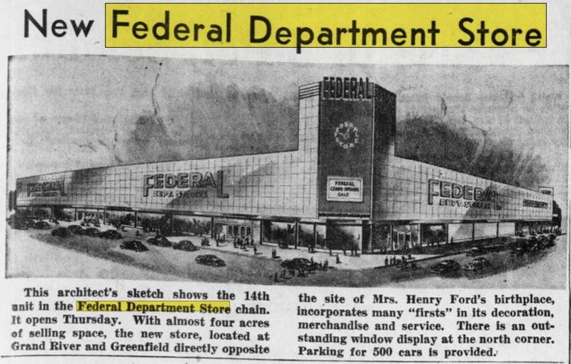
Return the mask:
[[[538,191],[509,186],[505,183],[470,176],[427,163],[399,158],[379,157],[375,172],[375,220],[404,221],[550,221],[552,218],[552,196]],[[460,206],[440,205],[434,196],[429,203],[430,180],[469,185],[473,188],[497,191],[497,206],[500,208],[466,207],[462,198]],[[543,208],[525,206],[524,200],[540,201]]]

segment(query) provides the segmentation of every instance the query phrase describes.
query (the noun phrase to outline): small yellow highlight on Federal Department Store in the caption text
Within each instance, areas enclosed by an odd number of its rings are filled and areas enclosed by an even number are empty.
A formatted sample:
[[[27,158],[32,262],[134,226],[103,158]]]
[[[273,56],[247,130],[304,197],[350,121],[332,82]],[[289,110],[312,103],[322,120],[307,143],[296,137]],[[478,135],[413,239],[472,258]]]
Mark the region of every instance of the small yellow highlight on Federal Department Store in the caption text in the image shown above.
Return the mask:
[[[230,313],[229,300],[78,300],[78,312]]]

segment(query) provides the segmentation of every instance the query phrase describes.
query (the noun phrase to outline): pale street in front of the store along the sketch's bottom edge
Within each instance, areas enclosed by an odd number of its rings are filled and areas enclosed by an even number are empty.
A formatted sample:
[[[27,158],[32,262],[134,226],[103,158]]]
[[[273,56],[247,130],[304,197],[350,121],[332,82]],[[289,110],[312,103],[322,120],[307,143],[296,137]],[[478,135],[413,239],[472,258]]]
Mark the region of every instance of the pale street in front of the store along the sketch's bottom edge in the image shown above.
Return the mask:
[[[146,244],[149,251],[136,252],[120,249],[120,242],[89,236],[59,238],[51,236],[50,231],[18,231],[9,227],[6,276],[401,288],[563,289],[567,282],[567,236],[557,237],[555,247],[523,256],[513,256],[510,251],[487,253],[485,257],[491,266],[482,274],[461,269],[453,276],[437,275],[430,267],[447,259],[465,266],[474,257],[461,253],[428,259],[419,261],[415,269],[343,269],[341,265],[335,266],[332,260],[332,269],[299,276],[285,272],[281,260],[243,255],[239,250],[235,253],[202,247],[190,252]],[[283,251],[278,249],[277,252],[280,255]],[[226,266],[196,263],[196,257],[204,254],[218,256]],[[310,256],[308,254],[307,258]],[[315,259],[318,261],[317,257]]]

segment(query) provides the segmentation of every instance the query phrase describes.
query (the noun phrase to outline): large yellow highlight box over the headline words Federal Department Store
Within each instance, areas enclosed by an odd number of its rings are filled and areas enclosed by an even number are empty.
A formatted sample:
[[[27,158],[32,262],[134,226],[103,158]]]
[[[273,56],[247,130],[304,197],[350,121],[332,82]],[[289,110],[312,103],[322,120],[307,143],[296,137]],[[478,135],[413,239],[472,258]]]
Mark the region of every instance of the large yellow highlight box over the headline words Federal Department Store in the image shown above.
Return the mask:
[[[105,4],[106,47],[546,47],[547,4]]]

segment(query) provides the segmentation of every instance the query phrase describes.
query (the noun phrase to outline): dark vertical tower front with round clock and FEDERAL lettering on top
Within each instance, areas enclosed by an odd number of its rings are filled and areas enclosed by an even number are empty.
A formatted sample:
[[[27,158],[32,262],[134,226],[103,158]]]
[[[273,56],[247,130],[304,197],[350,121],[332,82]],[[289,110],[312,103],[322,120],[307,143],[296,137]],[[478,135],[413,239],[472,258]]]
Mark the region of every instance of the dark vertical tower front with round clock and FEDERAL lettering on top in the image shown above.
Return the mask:
[[[324,77],[319,121],[319,213],[368,216],[374,84]]]

